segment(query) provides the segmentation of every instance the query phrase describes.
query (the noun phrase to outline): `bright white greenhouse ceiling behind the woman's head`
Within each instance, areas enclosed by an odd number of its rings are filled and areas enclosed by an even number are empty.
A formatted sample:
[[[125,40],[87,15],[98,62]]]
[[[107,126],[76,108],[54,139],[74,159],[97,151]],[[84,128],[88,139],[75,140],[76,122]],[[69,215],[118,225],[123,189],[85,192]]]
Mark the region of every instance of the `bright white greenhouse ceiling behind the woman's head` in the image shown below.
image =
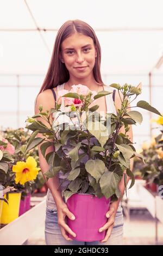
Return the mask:
[[[0,0],[0,74],[45,74],[67,20],[95,30],[103,74],[163,73],[162,0]]]

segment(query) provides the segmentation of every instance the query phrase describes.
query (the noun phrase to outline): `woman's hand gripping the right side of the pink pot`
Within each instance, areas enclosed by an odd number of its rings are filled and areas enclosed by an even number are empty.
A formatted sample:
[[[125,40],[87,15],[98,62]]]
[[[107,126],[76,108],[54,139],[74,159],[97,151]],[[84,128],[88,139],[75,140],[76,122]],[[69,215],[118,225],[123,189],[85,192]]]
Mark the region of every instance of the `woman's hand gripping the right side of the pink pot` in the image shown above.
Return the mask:
[[[106,231],[106,235],[104,237],[104,240],[101,240],[99,242],[106,242],[108,241],[110,235],[111,235],[111,231],[112,228],[114,227],[114,222],[115,222],[115,215],[116,215],[116,210],[115,210],[115,206],[114,204],[110,204],[110,209],[108,212],[106,212],[106,217],[108,218],[108,222],[101,228],[99,228],[99,232],[102,232],[104,230]]]

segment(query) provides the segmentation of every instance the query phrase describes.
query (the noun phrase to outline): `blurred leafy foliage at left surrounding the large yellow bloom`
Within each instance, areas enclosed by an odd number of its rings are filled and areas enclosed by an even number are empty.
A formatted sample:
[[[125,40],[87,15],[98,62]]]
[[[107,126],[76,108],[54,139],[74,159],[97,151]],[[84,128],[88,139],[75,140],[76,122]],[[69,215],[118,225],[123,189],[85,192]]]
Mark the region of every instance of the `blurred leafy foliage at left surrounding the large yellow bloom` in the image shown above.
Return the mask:
[[[15,130],[8,128],[5,131],[1,131],[0,136],[2,138],[0,145],[5,141],[5,147],[7,147],[6,149],[3,149],[3,158],[1,159],[0,164],[0,184],[4,188],[7,186],[13,186],[16,188],[17,192],[22,192],[21,199],[23,199],[27,193],[33,194],[34,192],[40,192],[45,184],[41,171],[39,171],[34,180],[27,181],[24,184],[20,184],[20,182],[16,184],[16,173],[12,171],[12,167],[16,165],[17,162],[26,162],[29,156],[34,158],[37,163],[37,167],[40,168],[37,148],[29,150],[28,153],[25,153],[24,150],[26,147],[25,144],[31,136],[30,132],[27,129],[25,131],[23,128]],[[2,147],[4,147],[4,144]],[[10,149],[11,154],[7,151],[8,148]]]

